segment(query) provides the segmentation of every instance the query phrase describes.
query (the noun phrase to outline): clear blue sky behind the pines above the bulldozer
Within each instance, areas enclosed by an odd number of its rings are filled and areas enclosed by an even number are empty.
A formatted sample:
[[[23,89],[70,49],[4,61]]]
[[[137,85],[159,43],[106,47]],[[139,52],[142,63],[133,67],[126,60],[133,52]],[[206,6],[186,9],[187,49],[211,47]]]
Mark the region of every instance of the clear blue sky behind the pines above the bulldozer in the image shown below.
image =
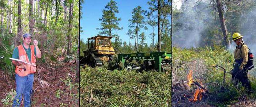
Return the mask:
[[[83,32],[80,33],[80,39],[83,39],[84,42],[87,41],[87,38],[93,37],[99,33],[99,30],[96,28],[101,27],[101,22],[99,18],[102,18],[102,10],[105,8],[105,5],[110,0],[85,0],[82,5],[82,19],[80,19],[80,27],[82,27]],[[118,34],[122,41],[129,43],[129,36],[126,35],[127,31],[129,30],[128,22],[129,19],[132,19],[132,9],[140,5],[142,9],[148,10],[149,5],[147,2],[149,0],[115,0],[117,2],[117,7],[119,13],[116,14],[117,18],[121,18],[122,20],[119,21],[119,27],[123,27],[123,30],[114,30],[113,34]],[[147,20],[145,16],[145,20]],[[153,32],[153,28],[147,25],[148,30],[141,30],[140,33],[143,31],[146,35],[147,44],[150,45],[152,43],[149,34]],[[140,34],[139,33],[139,34]],[[157,43],[157,27],[155,27],[155,42]],[[112,39],[114,41],[114,39]],[[131,43],[134,45],[134,39],[131,39]],[[140,40],[138,40],[138,43]]]

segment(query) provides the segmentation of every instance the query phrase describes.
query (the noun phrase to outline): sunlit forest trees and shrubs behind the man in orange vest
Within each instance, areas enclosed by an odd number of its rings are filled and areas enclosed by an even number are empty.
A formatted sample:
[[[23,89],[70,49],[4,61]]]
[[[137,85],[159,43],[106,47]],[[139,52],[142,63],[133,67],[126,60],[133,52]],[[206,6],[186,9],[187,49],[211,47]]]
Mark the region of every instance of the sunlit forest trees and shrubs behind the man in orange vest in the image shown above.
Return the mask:
[[[1,0],[0,69],[14,72],[9,57],[25,33],[38,40],[38,64],[56,65],[58,56],[77,54],[79,0]]]

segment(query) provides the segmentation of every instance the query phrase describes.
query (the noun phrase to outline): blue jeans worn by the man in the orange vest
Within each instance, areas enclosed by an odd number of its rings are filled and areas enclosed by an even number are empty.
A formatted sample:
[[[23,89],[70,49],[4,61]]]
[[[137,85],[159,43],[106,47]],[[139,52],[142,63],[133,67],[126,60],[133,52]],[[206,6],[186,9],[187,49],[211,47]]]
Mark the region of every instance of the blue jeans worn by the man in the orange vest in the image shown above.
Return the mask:
[[[15,74],[16,81],[16,96],[12,107],[19,107],[22,95],[24,95],[24,107],[30,107],[30,96],[32,93],[34,74],[29,74],[25,77],[20,77]]]

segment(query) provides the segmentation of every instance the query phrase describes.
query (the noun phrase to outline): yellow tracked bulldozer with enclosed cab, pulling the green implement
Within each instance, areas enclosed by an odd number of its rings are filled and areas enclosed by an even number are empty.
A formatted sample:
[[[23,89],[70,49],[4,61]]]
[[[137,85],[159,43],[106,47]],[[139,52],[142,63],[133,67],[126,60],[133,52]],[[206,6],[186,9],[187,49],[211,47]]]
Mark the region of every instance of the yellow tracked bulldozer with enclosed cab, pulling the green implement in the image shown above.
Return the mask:
[[[96,67],[102,66],[103,61],[113,60],[115,51],[111,45],[111,38],[102,35],[88,38],[88,50],[83,51],[84,57],[80,57],[80,64]]]

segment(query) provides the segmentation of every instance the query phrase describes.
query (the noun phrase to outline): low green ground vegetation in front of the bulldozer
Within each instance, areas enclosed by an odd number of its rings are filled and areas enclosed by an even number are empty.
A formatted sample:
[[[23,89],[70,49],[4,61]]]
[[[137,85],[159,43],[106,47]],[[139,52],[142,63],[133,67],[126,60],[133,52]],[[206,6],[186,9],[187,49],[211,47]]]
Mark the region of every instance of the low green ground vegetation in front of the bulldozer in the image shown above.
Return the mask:
[[[80,68],[81,106],[170,106],[171,87],[161,72]]]

